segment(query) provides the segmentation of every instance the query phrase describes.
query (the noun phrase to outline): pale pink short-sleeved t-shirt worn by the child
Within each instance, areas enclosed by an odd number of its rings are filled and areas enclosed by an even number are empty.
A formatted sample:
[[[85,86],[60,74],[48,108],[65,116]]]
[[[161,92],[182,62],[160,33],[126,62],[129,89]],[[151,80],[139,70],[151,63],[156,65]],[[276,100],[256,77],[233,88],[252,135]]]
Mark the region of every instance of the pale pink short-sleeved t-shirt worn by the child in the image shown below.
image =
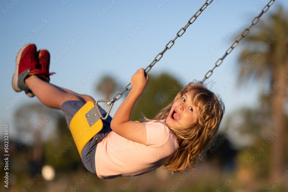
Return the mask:
[[[162,166],[174,155],[179,145],[169,128],[156,121],[145,124],[146,145],[130,141],[113,131],[98,143],[95,166],[99,178],[144,174]]]

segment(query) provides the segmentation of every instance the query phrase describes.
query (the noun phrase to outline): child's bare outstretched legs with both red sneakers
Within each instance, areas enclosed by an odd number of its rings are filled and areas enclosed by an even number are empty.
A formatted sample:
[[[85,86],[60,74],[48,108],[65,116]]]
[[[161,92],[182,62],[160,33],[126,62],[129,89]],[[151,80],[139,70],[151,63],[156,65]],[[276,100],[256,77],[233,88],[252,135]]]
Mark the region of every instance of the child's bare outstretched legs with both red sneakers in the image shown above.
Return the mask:
[[[28,96],[36,95],[43,104],[55,109],[61,109],[61,105],[67,100],[95,103],[90,96],[76,94],[48,83],[49,76],[53,74],[49,73],[50,54],[45,49],[36,51],[36,45],[29,43],[17,54],[16,70],[12,77],[12,88],[16,92],[25,90]]]

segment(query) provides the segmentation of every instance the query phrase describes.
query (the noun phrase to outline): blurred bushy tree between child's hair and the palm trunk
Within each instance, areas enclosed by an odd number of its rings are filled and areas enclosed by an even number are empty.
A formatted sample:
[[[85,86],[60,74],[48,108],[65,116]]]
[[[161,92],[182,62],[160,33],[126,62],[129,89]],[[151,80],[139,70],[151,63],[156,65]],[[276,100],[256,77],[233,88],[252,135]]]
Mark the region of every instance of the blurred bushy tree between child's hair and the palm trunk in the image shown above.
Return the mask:
[[[256,177],[266,179],[269,172],[270,144],[274,142],[265,143],[273,135],[269,115],[271,113],[266,110],[241,109],[228,116],[224,128],[233,148],[239,149],[236,157],[238,174],[245,173],[250,182]],[[260,148],[263,150],[259,151]]]

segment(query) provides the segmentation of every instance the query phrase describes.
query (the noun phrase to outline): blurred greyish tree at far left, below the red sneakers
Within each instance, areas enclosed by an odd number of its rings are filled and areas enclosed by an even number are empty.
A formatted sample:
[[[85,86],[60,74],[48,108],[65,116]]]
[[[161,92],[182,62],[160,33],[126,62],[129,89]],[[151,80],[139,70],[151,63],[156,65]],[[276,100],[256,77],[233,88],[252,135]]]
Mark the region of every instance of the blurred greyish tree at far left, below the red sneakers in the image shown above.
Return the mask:
[[[58,119],[58,111],[43,104],[26,104],[17,109],[14,118],[18,147],[29,146],[26,155],[30,164],[29,171],[31,174],[39,172],[43,164],[43,142],[49,135],[53,136],[53,130],[47,128],[47,124]]]

